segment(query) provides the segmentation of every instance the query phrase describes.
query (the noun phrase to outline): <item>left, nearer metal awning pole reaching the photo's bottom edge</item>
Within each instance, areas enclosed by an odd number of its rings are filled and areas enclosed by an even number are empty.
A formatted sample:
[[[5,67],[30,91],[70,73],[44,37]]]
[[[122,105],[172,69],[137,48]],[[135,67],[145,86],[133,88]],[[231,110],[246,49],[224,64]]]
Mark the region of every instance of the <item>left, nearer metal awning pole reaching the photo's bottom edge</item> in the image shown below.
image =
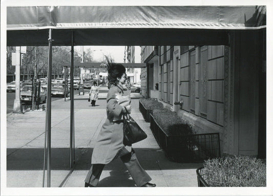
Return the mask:
[[[48,38],[48,92],[47,92],[47,187],[50,187],[51,178],[51,73],[52,73],[52,29],[49,29]]]

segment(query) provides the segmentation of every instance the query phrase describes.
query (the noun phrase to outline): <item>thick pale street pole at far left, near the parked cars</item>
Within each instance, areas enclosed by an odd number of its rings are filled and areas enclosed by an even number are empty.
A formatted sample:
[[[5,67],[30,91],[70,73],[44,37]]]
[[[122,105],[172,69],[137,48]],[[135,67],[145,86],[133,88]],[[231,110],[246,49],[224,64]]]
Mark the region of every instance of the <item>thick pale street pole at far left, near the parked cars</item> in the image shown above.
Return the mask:
[[[20,99],[21,47],[16,47],[16,52],[12,60],[13,60],[13,63],[15,64],[15,99],[13,103],[13,113],[22,113],[23,108],[22,108],[22,102]]]

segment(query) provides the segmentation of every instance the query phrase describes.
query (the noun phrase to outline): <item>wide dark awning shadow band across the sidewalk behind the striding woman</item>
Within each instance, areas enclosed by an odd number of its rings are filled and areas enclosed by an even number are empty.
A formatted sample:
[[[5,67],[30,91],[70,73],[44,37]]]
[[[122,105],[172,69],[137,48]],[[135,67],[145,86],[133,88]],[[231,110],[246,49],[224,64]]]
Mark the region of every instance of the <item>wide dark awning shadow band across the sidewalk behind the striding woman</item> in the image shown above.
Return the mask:
[[[193,169],[200,163],[176,163],[168,160],[160,148],[134,148],[140,164],[145,170]],[[93,148],[75,148],[74,170],[89,170]],[[7,170],[43,170],[44,148],[8,148]],[[123,164],[113,160],[105,169],[114,170]],[[125,168],[125,167],[124,167]],[[51,149],[51,169],[71,170],[70,149]],[[125,168],[126,170],[126,168]],[[113,173],[112,173],[113,174]],[[106,179],[107,180],[107,179]]]

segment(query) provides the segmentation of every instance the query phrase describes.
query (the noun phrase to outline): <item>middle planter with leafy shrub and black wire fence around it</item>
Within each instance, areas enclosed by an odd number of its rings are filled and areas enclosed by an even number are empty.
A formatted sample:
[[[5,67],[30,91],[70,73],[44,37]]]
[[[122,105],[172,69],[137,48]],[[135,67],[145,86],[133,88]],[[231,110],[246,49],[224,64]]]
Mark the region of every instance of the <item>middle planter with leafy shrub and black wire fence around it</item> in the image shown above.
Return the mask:
[[[170,110],[153,110],[151,130],[171,161],[203,162],[220,156],[219,133],[194,134],[192,126]]]

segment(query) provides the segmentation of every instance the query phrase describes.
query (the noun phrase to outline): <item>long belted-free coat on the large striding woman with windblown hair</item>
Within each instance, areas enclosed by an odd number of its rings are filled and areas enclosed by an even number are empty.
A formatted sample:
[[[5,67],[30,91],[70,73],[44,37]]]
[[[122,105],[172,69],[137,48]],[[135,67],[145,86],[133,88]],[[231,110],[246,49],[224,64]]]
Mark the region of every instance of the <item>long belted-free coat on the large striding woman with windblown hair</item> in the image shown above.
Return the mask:
[[[123,145],[123,123],[113,122],[122,119],[122,106],[119,105],[116,96],[123,92],[118,86],[111,86],[107,95],[107,119],[102,125],[92,154],[92,164],[108,164],[119,153]],[[131,146],[125,146],[128,151]]]

